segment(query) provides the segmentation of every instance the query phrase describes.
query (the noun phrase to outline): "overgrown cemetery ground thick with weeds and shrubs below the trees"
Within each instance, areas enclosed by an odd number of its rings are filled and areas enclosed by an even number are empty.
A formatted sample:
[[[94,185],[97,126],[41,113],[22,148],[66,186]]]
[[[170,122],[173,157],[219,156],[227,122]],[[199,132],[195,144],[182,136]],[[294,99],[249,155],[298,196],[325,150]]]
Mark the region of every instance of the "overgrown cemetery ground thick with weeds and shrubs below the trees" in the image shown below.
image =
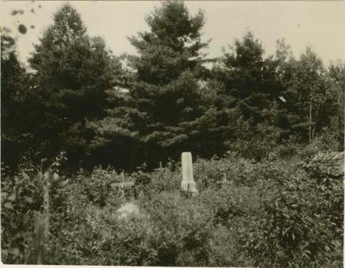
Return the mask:
[[[343,153],[312,157],[304,150],[259,162],[235,153],[197,158],[193,196],[181,192],[181,163],[175,162],[152,171],[143,166],[126,176],[110,167],[51,176],[49,233],[40,247],[34,212],[45,209],[44,180],[35,169],[21,167],[14,180],[1,178],[1,260],[342,267],[342,170]]]

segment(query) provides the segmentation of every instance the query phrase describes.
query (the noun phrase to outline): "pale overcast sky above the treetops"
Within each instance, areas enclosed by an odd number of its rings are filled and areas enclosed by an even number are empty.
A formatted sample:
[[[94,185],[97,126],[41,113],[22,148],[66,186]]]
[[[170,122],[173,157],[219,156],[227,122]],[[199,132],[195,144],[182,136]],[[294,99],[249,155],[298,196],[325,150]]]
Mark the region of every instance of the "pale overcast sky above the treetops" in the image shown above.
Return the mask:
[[[88,33],[101,35],[115,54],[135,52],[127,37],[148,30],[144,18],[159,6],[159,1],[69,2],[81,14]],[[1,1],[1,25],[19,37],[17,48],[23,61],[63,3],[66,1]],[[186,6],[192,14],[199,8],[205,11],[204,37],[212,39],[209,56],[219,56],[224,45],[249,29],[262,41],[267,54],[273,54],[277,39],[284,38],[295,56],[311,45],[326,64],[345,59],[344,1],[186,1]],[[24,14],[12,16],[12,10],[24,10]],[[28,26],[26,34],[19,34],[19,23]]]

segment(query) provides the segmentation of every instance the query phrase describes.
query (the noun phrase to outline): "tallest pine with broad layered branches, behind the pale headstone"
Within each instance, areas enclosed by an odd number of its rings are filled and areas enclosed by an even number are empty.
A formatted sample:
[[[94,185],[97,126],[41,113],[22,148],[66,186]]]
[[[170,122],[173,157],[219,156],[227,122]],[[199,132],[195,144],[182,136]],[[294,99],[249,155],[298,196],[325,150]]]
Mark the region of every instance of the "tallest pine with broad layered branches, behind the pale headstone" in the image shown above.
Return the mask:
[[[117,95],[116,108],[93,125],[99,144],[118,148],[125,143],[130,154],[135,145],[138,159],[132,165],[147,161],[157,166],[185,150],[206,157],[221,152],[224,111],[215,103],[217,87],[210,87],[218,85],[203,65],[208,45],[201,41],[204,13],[191,16],[183,2],[164,1],[146,22],[150,31],[130,38],[138,52],[129,59],[134,83],[128,94],[111,93]],[[130,161],[132,156],[124,155]]]

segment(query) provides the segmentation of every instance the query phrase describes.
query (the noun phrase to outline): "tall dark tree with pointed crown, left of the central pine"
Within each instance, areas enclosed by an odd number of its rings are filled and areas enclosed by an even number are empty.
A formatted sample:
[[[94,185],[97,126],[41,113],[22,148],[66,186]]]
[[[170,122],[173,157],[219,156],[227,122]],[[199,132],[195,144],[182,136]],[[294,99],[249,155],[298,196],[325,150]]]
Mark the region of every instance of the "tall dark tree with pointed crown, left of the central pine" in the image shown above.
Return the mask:
[[[42,99],[37,136],[47,140],[46,154],[66,150],[71,161],[83,160],[92,137],[86,121],[104,116],[106,90],[121,66],[103,39],[88,37],[69,4],[55,13],[34,49],[29,62]]]

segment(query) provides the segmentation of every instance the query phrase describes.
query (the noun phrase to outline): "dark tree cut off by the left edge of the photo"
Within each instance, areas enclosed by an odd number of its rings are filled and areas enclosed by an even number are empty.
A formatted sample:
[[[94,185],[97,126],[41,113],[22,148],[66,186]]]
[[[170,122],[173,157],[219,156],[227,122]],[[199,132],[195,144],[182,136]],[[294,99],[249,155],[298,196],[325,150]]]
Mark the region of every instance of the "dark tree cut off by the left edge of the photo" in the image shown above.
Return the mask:
[[[37,116],[30,74],[19,62],[15,43],[1,34],[1,161],[11,168],[28,149]]]

